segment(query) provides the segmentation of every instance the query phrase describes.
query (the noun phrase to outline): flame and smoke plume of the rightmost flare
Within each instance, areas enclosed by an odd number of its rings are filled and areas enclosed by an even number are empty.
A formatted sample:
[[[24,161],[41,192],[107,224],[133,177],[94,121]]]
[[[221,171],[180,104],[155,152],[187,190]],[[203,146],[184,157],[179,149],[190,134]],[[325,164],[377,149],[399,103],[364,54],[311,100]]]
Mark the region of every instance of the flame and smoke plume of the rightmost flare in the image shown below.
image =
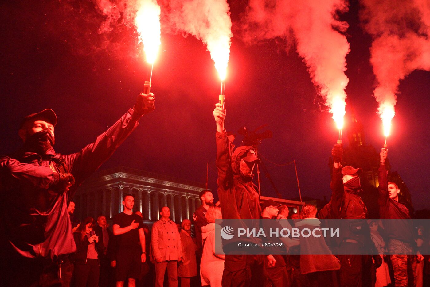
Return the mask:
[[[399,81],[415,69],[430,70],[430,2],[428,0],[362,0],[361,19],[372,35],[370,61],[384,134],[394,117]]]

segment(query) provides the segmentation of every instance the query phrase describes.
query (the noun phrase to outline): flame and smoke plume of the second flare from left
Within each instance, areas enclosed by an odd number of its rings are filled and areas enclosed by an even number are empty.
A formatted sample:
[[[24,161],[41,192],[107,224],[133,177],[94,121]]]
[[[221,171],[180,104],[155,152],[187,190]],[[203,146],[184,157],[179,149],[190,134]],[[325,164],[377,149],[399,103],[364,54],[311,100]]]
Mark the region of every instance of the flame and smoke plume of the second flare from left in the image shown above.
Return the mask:
[[[231,19],[227,0],[165,1],[169,26],[195,36],[206,44],[221,79],[226,76],[230,55]]]

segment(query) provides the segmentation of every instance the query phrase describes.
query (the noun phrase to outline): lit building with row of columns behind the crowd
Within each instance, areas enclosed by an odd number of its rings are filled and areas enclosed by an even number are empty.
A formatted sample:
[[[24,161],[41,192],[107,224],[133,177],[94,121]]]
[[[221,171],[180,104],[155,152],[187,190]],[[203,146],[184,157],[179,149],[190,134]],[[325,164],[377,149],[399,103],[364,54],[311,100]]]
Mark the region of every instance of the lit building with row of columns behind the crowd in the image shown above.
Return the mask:
[[[133,211],[141,211],[144,221],[157,221],[160,208],[170,208],[176,223],[191,219],[200,206],[199,193],[205,184],[119,166],[96,173],[78,188],[73,201],[80,220],[101,214],[109,220],[123,211],[123,196],[133,194]]]

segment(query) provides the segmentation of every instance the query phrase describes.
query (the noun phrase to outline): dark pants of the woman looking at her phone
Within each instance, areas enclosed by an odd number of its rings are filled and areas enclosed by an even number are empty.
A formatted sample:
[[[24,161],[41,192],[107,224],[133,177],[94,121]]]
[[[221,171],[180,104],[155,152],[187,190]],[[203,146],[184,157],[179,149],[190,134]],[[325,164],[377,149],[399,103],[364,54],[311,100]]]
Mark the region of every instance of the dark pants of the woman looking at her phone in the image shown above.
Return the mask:
[[[97,259],[87,259],[86,264],[75,264],[73,278],[75,287],[97,287],[100,266]]]

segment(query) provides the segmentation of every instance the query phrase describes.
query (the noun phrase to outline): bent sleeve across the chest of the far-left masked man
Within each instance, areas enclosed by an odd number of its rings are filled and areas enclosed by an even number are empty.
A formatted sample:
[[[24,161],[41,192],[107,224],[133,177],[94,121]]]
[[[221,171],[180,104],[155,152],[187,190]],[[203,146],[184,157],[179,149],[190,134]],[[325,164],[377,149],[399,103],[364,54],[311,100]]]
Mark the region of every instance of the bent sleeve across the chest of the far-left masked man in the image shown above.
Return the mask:
[[[7,173],[18,181],[25,181],[34,187],[43,189],[48,189],[59,180],[58,173],[53,172],[48,166],[21,163],[10,157],[2,157],[0,159],[0,168],[2,169],[2,173]]]

